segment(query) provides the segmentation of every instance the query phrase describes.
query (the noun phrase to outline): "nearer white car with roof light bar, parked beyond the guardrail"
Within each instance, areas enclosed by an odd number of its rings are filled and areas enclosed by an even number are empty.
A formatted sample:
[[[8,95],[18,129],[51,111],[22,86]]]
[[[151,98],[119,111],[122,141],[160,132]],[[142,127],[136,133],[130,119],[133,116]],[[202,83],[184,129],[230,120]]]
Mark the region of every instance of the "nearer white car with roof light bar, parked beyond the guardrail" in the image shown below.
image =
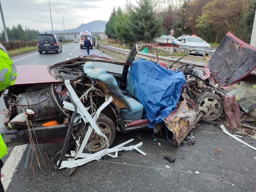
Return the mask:
[[[198,36],[180,36],[174,42],[177,45],[181,46],[193,46],[193,47],[203,47],[203,48],[211,48],[211,45],[209,43],[206,43],[203,39],[201,39]],[[203,52],[195,52],[192,51],[190,53],[197,53],[197,54],[203,54]]]

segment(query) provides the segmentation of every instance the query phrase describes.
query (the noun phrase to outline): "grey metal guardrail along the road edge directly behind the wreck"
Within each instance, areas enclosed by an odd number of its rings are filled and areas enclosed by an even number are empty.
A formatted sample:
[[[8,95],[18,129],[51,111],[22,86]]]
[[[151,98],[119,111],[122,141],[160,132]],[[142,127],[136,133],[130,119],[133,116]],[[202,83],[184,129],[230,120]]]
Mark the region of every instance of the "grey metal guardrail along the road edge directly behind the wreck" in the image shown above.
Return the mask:
[[[111,47],[111,46],[101,45],[101,44],[98,44],[97,46],[101,49],[108,50],[109,52],[112,52],[114,54],[127,54],[128,55],[130,53],[129,49],[122,49],[122,48],[118,48],[118,47]],[[150,61],[156,61],[156,56],[154,54],[138,52],[136,57],[145,58],[146,60],[150,60]],[[158,56],[158,60],[159,60],[159,62],[166,63],[166,66],[169,67],[177,59],[170,58],[170,57],[164,57],[164,56]],[[184,64],[191,64],[191,65],[194,65],[195,67],[204,67],[205,65],[207,65],[205,63],[200,63],[200,62],[180,60],[180,61],[176,62],[173,65],[173,67],[180,67],[181,65],[184,65]],[[256,76],[256,71],[252,71],[250,74],[253,76]]]

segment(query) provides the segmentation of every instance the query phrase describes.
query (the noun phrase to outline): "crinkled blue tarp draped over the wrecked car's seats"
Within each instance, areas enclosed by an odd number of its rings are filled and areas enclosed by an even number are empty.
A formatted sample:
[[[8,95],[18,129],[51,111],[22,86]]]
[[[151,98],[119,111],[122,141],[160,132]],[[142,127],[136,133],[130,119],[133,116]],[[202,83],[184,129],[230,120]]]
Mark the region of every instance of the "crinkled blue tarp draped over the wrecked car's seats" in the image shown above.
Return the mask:
[[[176,109],[181,90],[186,83],[182,72],[168,70],[155,62],[134,61],[131,77],[136,96],[146,111],[149,127],[163,121]]]

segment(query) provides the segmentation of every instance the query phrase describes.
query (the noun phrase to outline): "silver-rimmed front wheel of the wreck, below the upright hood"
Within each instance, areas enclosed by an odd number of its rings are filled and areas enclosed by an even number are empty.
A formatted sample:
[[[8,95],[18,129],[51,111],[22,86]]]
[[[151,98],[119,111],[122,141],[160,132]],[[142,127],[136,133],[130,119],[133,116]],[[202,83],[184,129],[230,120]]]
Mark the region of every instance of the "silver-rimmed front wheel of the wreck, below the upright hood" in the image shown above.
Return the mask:
[[[196,95],[198,109],[203,113],[203,120],[214,121],[223,111],[223,103],[220,97],[214,93],[204,92]]]

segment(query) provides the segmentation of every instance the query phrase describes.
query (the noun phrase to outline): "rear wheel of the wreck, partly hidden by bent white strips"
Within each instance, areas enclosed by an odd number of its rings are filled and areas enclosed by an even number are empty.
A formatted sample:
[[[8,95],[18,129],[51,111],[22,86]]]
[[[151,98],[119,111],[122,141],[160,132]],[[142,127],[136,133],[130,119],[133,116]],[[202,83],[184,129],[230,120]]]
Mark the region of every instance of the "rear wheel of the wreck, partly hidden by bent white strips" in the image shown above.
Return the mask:
[[[116,137],[116,126],[113,121],[108,116],[100,113],[96,123],[101,132],[108,138],[109,146],[112,145]],[[87,129],[85,129],[82,133],[82,139],[85,137],[86,131]],[[106,140],[93,130],[91,136],[89,137],[88,144],[85,146],[85,149],[95,153],[106,148],[107,146],[108,145]]]

